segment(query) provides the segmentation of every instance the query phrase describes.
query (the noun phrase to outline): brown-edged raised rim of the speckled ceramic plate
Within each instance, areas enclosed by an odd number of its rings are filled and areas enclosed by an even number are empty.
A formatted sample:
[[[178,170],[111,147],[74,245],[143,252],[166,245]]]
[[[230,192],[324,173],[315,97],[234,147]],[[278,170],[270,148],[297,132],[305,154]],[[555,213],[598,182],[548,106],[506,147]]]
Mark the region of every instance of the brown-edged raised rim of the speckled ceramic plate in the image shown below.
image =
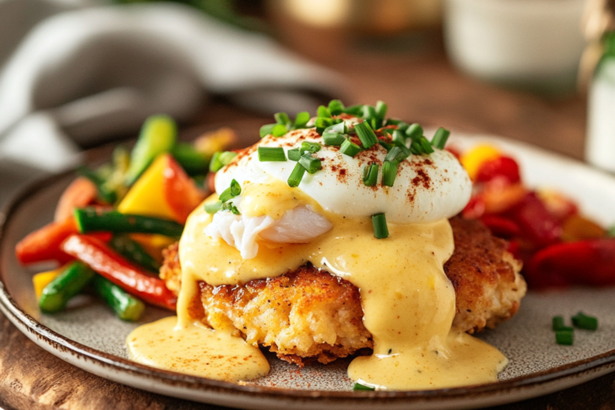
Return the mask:
[[[496,140],[509,146],[523,147],[539,154],[559,158],[569,164],[585,167],[584,164],[568,157],[535,148],[530,144],[506,140],[506,138],[481,135],[472,140]],[[593,172],[594,170],[592,170]],[[605,174],[595,171],[601,176]],[[31,184],[17,195],[0,213],[0,248],[5,246],[6,227],[20,205],[42,187],[57,183],[70,175],[71,171],[43,179]],[[609,178],[611,178],[609,176]],[[613,178],[615,184],[615,178]],[[250,384],[235,384],[202,377],[186,376],[171,371],[140,365],[109,353],[92,349],[58,334],[42,325],[21,309],[4,285],[0,266],[0,311],[31,341],[90,373],[121,384],[148,390],[149,392],[178,398],[220,404],[237,408],[265,410],[320,409],[331,406],[339,410],[356,409],[465,409],[512,403],[527,398],[563,390],[582,382],[615,371],[615,349],[600,355],[574,361],[567,365],[547,369],[514,379],[470,387],[421,390],[411,392],[335,392],[322,390],[292,390],[287,388],[263,387]]]

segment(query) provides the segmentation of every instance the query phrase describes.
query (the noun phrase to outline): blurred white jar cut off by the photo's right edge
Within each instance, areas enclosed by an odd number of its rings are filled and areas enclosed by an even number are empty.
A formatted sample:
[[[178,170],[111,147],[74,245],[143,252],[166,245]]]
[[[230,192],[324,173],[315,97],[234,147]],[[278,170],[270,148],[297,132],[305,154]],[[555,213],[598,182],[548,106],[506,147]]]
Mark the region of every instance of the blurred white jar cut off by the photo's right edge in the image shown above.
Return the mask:
[[[587,96],[585,159],[615,172],[615,31],[604,35],[603,44]]]

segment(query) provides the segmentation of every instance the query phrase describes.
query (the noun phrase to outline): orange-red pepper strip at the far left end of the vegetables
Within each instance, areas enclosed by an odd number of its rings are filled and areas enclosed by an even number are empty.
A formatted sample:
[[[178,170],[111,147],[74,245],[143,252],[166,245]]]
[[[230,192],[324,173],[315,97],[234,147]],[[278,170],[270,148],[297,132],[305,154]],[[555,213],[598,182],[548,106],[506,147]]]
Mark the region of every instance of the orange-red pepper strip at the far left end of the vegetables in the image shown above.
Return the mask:
[[[73,258],[62,251],[60,245],[70,235],[78,234],[77,224],[73,216],[63,221],[55,221],[31,232],[15,246],[15,254],[22,264],[42,261],[58,261],[65,264]],[[101,240],[111,239],[108,232],[95,234]]]

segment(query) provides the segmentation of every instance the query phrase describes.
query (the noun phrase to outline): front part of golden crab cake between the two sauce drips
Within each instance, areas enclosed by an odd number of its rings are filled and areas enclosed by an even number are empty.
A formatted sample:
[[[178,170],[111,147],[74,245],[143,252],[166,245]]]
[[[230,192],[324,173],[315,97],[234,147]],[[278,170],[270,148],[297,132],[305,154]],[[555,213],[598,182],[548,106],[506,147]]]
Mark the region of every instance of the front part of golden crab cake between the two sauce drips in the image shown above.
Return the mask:
[[[248,343],[298,365],[305,358],[328,363],[373,346],[359,290],[313,266],[244,286],[199,286],[205,323],[236,329]]]

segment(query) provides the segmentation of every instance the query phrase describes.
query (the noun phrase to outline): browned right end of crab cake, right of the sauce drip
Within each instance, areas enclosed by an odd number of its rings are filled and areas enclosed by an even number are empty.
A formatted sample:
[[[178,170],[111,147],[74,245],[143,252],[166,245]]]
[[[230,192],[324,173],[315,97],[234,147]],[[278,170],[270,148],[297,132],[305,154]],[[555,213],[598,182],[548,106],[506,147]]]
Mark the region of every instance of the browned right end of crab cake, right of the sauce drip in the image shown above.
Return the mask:
[[[450,223],[455,250],[444,272],[455,289],[453,326],[470,334],[493,328],[519,310],[527,290],[522,264],[479,221],[456,216]]]

